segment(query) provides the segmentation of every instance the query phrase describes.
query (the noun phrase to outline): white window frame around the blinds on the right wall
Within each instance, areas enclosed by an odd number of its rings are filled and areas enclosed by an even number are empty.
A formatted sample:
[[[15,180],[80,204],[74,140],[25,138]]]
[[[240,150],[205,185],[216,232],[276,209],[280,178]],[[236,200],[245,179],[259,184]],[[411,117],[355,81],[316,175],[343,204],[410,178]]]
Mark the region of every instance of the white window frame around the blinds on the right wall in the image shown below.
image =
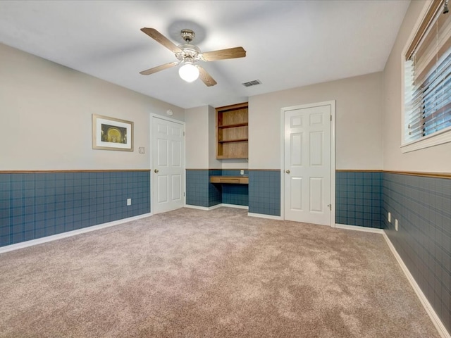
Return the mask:
[[[433,1],[426,1],[426,4],[424,4],[423,9],[421,10],[421,13],[419,15],[418,20],[416,20],[416,23],[412,29],[412,32],[409,35],[409,39],[407,39],[406,44],[404,45],[404,49],[402,49],[401,54],[401,151],[402,153],[407,153],[409,151],[416,151],[419,149],[425,149],[431,146],[438,146],[439,144],[445,144],[448,142],[451,142],[451,127],[446,127],[443,130],[439,130],[438,132],[434,132],[433,134],[420,137],[419,139],[415,139],[413,141],[406,141],[406,111],[405,111],[405,56],[407,54],[407,51],[410,49],[410,46],[412,45],[412,42],[414,41],[414,38],[421,28],[421,25],[423,24],[424,20],[426,19],[426,15],[429,11],[429,8],[433,6]],[[448,15],[451,15],[449,13]]]

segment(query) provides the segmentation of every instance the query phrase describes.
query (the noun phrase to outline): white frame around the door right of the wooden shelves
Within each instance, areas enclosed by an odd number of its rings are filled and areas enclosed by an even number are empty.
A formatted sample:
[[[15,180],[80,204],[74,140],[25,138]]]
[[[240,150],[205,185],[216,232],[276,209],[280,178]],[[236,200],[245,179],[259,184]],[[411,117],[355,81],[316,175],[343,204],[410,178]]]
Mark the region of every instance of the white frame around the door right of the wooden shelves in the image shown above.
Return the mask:
[[[335,227],[335,100],[280,108],[280,218],[285,220],[285,112],[330,106],[330,226]]]

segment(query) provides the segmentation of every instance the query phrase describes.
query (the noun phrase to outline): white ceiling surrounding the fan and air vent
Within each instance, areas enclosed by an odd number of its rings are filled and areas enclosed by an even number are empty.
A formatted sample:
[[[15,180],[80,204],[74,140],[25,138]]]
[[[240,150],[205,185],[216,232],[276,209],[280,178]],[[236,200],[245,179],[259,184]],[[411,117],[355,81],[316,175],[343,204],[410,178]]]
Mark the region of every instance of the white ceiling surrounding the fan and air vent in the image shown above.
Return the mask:
[[[225,106],[248,96],[383,70],[410,0],[0,1],[0,42],[180,106]],[[218,82],[187,83],[176,61],[140,31],[202,51],[242,46],[245,58],[202,62]],[[255,87],[242,82],[261,80]]]

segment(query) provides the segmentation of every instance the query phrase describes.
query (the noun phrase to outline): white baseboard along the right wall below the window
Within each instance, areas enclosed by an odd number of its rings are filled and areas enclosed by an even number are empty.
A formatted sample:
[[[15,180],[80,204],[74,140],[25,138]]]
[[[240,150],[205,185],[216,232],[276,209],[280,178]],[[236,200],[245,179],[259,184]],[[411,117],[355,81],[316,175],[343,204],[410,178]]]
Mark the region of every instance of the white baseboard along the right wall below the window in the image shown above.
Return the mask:
[[[426,312],[428,313],[429,317],[432,320],[433,325],[438,331],[438,334],[440,334],[440,337],[442,338],[451,338],[450,332],[447,332],[445,325],[443,325],[440,318],[438,318],[437,313],[435,313],[433,307],[431,306],[431,303],[429,303],[428,299],[424,295],[424,293],[421,291],[419,285],[416,283],[416,280],[410,273],[407,266],[404,264],[404,261],[402,261],[401,256],[399,253],[397,253],[395,246],[393,246],[392,242],[390,241],[390,238],[388,238],[388,235],[385,233],[385,231],[382,232],[383,238],[385,238],[385,242],[387,242],[388,247],[393,253],[393,256],[395,256],[397,263],[400,265],[402,271],[404,272],[404,275],[406,275],[407,280],[409,280],[410,284],[414,288],[414,291],[416,293],[416,296],[418,296],[419,300],[421,301],[421,304],[423,304]]]

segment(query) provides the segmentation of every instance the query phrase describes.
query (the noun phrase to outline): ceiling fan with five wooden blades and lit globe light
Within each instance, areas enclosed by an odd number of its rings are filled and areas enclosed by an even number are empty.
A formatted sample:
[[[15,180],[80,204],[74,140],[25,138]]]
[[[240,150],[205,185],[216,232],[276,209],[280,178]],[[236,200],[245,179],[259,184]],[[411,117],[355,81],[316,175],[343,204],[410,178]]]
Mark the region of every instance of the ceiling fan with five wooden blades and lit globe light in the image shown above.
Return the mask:
[[[221,49],[218,51],[206,51],[202,53],[198,46],[191,44],[194,39],[194,32],[192,30],[182,30],[180,35],[182,36],[185,44],[180,44],[176,46],[168,38],[162,35],[159,31],[154,28],[141,28],[142,32],[152,37],[156,42],[159,42],[167,49],[171,50],[175,54],[175,58],[178,61],[165,63],[164,65],[159,65],[154,68],[143,70],[140,72],[142,75],[150,75],[160,70],[174,67],[175,65],[180,65],[178,73],[183,80],[187,82],[193,82],[200,77],[202,82],[208,87],[214,86],[217,82],[214,80],[206,70],[197,64],[198,61],[216,61],[225,60],[227,58],[244,58],[246,56],[246,51],[242,47],[234,47],[229,49]]]

